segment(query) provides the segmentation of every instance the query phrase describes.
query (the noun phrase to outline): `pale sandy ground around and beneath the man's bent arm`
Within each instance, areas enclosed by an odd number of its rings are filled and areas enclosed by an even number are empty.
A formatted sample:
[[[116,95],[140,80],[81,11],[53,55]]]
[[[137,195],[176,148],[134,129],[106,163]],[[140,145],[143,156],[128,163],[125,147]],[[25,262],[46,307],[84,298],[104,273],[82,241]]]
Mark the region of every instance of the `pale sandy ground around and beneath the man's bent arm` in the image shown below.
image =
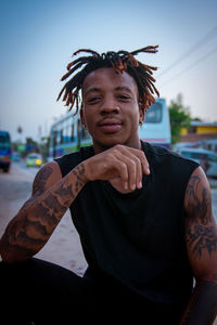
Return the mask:
[[[9,173],[0,171],[0,236],[9,221],[30,196],[33,180],[37,171],[38,168],[26,168],[24,162],[13,162]],[[217,219],[217,180],[209,180],[209,183],[213,211]],[[36,257],[58,263],[82,275],[87,263],[68,211]],[[214,325],[217,325],[217,321]]]

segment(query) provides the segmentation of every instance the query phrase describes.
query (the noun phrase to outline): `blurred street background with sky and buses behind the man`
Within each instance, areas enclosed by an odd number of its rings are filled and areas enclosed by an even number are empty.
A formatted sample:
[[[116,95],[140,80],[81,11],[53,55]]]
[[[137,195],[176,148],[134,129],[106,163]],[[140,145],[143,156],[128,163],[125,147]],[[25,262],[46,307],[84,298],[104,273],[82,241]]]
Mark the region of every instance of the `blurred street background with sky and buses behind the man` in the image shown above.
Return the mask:
[[[216,0],[0,0],[0,35],[2,231],[29,196],[38,167],[91,141],[79,117],[56,102],[66,65],[82,48],[102,53],[159,46],[156,54],[137,56],[158,67],[161,93],[141,139],[199,161],[215,199]]]

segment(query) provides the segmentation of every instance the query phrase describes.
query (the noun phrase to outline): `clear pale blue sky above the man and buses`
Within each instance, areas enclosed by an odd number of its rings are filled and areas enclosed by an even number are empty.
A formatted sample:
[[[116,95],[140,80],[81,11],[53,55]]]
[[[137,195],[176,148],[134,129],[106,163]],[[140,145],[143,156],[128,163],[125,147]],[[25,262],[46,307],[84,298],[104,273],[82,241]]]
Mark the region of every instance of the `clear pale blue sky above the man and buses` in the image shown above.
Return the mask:
[[[181,93],[192,117],[217,121],[216,0],[0,0],[0,129],[12,141],[49,134],[67,112],[56,96],[76,50],[156,44],[137,58],[158,67],[161,98]]]

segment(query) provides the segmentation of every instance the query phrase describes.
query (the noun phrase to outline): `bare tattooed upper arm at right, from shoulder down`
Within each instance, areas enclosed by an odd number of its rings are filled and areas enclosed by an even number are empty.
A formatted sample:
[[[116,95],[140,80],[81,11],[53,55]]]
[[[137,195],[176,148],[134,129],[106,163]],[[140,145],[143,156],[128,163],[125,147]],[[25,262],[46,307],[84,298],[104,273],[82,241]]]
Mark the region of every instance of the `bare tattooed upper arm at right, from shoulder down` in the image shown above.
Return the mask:
[[[197,277],[217,281],[217,224],[208,180],[201,167],[192,173],[184,197],[186,242]]]

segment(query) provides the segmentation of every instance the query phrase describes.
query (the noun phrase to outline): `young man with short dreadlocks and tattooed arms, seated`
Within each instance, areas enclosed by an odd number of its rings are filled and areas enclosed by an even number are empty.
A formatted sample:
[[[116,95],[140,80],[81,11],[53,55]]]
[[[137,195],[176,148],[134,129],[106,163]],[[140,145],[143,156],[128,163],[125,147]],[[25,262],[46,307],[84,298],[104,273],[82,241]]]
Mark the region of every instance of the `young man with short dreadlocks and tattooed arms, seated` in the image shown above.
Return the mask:
[[[197,164],[138,135],[158,93],[155,68],[135,55],[156,48],[79,50],[91,55],[72,62],[62,78],[85,65],[60,96],[65,91],[66,105],[76,102],[78,110],[81,91],[93,146],[42,167],[1,238],[1,296],[22,324],[67,324],[77,315],[99,324],[207,325],[216,317],[217,225],[207,179]],[[84,277],[31,258],[68,208],[88,262]]]

